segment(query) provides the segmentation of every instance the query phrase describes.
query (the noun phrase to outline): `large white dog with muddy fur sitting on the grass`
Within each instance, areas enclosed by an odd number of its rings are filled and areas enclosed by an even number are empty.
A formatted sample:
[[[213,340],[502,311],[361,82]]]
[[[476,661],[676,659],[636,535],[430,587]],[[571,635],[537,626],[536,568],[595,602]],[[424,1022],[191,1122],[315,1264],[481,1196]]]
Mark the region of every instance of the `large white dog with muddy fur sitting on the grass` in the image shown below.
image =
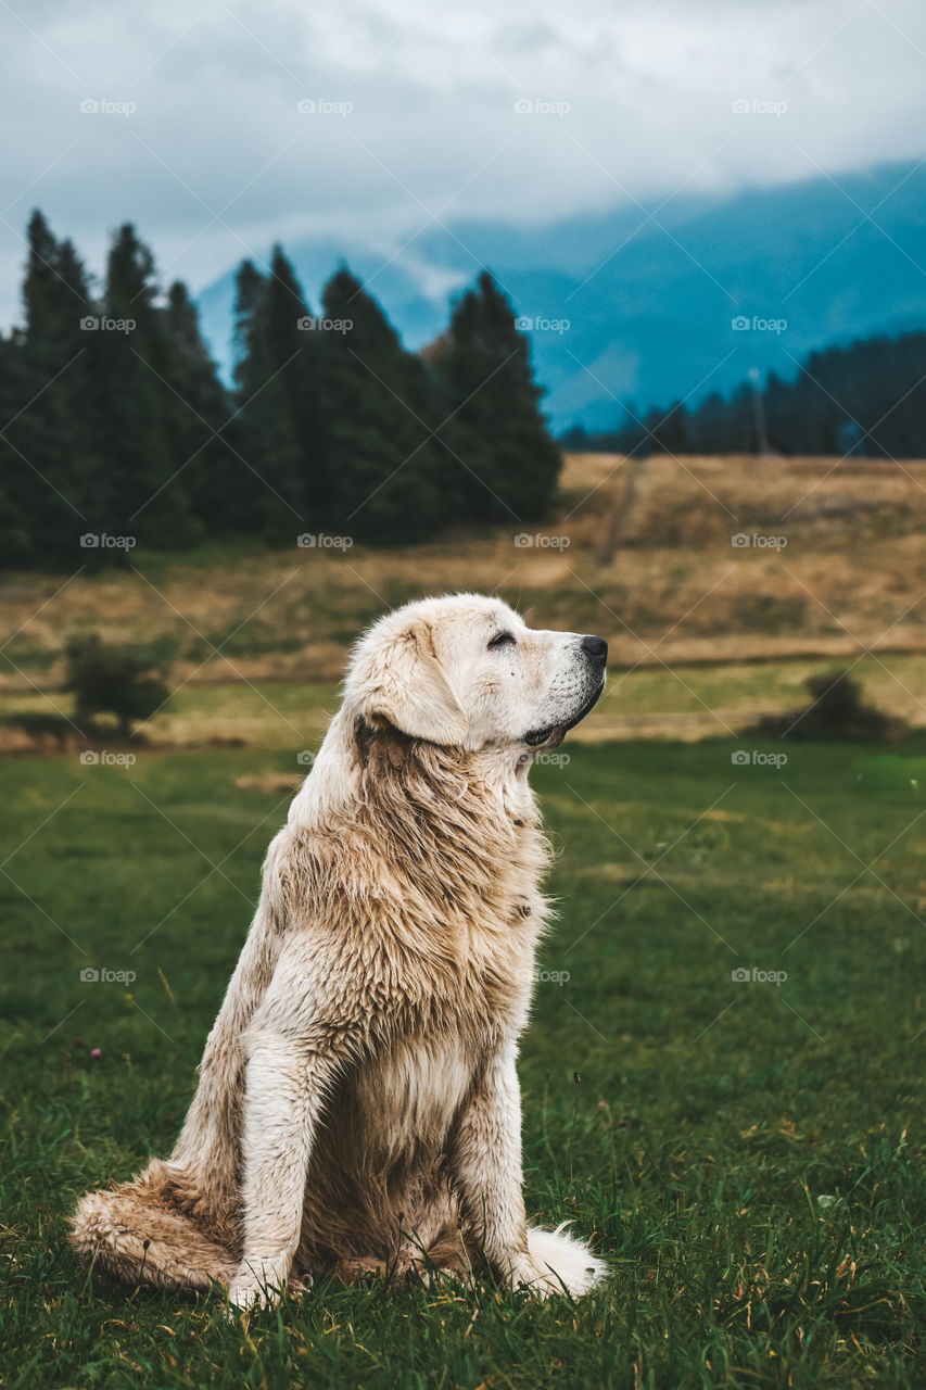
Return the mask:
[[[527,783],[605,684],[598,637],[496,599],[427,599],[356,646],[264,865],[171,1158],[89,1193],[72,1243],[131,1282],[463,1275],[538,1294],[605,1272],[528,1229],[517,1038],[545,902]]]

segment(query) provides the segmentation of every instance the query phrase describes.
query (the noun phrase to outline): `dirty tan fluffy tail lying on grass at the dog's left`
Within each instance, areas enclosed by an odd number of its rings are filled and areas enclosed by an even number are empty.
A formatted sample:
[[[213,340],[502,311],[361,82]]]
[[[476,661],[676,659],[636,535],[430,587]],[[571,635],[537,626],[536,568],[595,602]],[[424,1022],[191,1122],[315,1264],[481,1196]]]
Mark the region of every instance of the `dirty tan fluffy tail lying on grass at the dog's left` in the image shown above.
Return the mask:
[[[131,1284],[209,1289],[228,1284],[238,1261],[175,1201],[175,1175],[153,1162],[132,1183],[86,1193],[71,1218],[78,1258]]]

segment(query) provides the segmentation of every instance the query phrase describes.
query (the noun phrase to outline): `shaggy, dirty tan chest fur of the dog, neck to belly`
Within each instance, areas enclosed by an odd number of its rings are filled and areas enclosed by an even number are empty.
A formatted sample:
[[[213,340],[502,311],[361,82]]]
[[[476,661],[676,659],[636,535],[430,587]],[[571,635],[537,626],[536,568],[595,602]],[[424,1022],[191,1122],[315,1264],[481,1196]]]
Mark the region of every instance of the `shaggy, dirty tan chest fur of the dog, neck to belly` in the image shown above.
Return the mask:
[[[303,865],[291,895],[314,906],[314,998],[359,1044],[327,1111],[332,1152],[362,1133],[364,1170],[395,1172],[441,1150],[527,1022],[546,842],[526,780],[492,792],[478,769],[391,738],[368,744],[366,773],[349,820],[295,831],[286,858]]]

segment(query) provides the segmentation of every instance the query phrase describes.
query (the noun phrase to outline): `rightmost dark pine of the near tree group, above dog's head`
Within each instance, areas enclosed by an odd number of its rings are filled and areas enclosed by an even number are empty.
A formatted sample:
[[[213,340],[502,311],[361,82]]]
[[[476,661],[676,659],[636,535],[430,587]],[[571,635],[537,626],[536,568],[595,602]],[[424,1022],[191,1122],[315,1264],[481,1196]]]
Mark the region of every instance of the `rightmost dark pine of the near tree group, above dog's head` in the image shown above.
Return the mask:
[[[562,457],[539,410],[542,391],[534,384],[530,345],[488,272],[453,310],[437,382],[446,468],[469,517],[542,518]]]

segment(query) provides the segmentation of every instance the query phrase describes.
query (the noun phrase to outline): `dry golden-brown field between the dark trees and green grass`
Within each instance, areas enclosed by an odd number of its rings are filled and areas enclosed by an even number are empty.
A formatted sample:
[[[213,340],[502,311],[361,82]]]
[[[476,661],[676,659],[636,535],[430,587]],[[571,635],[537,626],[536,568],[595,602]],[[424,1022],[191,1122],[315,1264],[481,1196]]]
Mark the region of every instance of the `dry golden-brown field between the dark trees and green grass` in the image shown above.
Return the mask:
[[[729,733],[855,664],[866,695],[926,726],[926,463],[567,459],[560,505],[432,545],[132,555],[101,575],[8,574],[0,712],[70,712],[78,632],[168,655],[152,741],[316,738],[357,628],[425,592],[496,591],[528,621],[596,631],[613,677],[585,738]],[[734,537],[745,543],[734,543]],[[29,746],[7,727],[3,746]]]

